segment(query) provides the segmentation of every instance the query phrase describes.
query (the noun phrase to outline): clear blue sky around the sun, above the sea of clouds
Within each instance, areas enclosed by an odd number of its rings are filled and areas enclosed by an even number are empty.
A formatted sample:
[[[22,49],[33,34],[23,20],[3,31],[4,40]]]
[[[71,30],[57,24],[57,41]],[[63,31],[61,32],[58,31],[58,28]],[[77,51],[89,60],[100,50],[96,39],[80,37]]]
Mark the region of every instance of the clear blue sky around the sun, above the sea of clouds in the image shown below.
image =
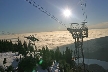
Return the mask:
[[[31,0],[30,0],[31,1]],[[108,0],[33,0],[67,27],[81,23],[87,15],[86,25],[108,22]],[[81,3],[86,3],[82,10]],[[65,17],[63,10],[71,10]],[[41,12],[26,0],[0,0],[0,32],[28,33],[66,30],[66,27]]]

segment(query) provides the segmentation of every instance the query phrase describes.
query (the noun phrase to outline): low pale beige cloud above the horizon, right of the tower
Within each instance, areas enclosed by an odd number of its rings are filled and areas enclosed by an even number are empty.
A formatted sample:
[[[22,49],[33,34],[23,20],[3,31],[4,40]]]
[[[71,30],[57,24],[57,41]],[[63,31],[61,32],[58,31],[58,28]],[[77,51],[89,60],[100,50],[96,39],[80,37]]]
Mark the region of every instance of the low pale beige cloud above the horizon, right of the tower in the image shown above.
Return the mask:
[[[89,29],[106,29],[108,28],[108,22],[103,22],[101,24],[89,25]]]

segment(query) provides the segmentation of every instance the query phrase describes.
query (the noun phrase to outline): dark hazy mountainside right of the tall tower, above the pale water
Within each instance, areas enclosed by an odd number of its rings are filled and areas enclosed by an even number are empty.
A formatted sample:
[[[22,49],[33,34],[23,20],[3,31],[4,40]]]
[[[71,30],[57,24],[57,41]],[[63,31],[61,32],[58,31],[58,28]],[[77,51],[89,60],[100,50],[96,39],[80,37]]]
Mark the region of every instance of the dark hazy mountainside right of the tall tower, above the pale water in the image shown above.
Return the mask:
[[[98,59],[98,60],[108,62],[108,36],[97,38],[94,40],[95,40],[95,43],[94,43],[95,47],[91,46],[93,51],[89,51],[89,53],[88,51],[84,52],[85,58]],[[92,41],[93,40],[89,41],[89,43]]]

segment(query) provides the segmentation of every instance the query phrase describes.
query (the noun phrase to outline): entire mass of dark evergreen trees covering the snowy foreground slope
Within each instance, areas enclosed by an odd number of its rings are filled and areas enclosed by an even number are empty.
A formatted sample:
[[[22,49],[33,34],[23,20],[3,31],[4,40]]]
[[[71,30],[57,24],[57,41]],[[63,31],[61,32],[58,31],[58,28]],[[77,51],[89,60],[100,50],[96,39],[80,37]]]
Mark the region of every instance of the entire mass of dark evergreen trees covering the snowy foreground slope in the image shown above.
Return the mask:
[[[18,52],[23,55],[23,58],[18,63],[18,72],[32,72],[37,69],[37,65],[41,66],[42,69],[47,69],[50,72],[49,67],[52,66],[56,60],[59,63],[60,72],[84,72],[81,67],[78,67],[76,62],[72,60],[73,51],[66,47],[63,52],[60,51],[59,47],[56,50],[50,50],[47,46],[41,49],[35,50],[30,43],[24,41],[23,43],[19,40],[17,43],[12,41],[0,40],[0,52]],[[37,54],[36,52],[40,52]],[[29,54],[29,56],[27,56]],[[9,66],[7,71],[12,71],[14,68]],[[5,72],[0,67],[2,72]],[[91,72],[91,71],[87,71]]]

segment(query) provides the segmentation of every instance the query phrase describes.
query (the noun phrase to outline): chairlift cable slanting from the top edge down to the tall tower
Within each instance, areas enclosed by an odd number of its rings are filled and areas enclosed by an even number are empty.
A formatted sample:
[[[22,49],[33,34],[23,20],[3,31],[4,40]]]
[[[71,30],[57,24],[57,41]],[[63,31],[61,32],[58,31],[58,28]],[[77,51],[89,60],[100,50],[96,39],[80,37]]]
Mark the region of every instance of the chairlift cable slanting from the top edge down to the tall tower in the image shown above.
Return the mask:
[[[40,6],[39,4],[37,4],[35,1],[33,0],[26,0],[29,4],[33,5],[35,8],[39,9],[41,12],[45,13],[47,16],[51,17],[53,20],[55,20],[56,22],[58,22],[59,24],[63,25],[64,27],[66,27],[66,24],[64,24],[62,21],[59,21],[58,18],[56,18],[54,15],[52,15],[51,13],[49,13],[47,10],[45,10],[42,6]],[[67,28],[67,27],[66,27]]]

